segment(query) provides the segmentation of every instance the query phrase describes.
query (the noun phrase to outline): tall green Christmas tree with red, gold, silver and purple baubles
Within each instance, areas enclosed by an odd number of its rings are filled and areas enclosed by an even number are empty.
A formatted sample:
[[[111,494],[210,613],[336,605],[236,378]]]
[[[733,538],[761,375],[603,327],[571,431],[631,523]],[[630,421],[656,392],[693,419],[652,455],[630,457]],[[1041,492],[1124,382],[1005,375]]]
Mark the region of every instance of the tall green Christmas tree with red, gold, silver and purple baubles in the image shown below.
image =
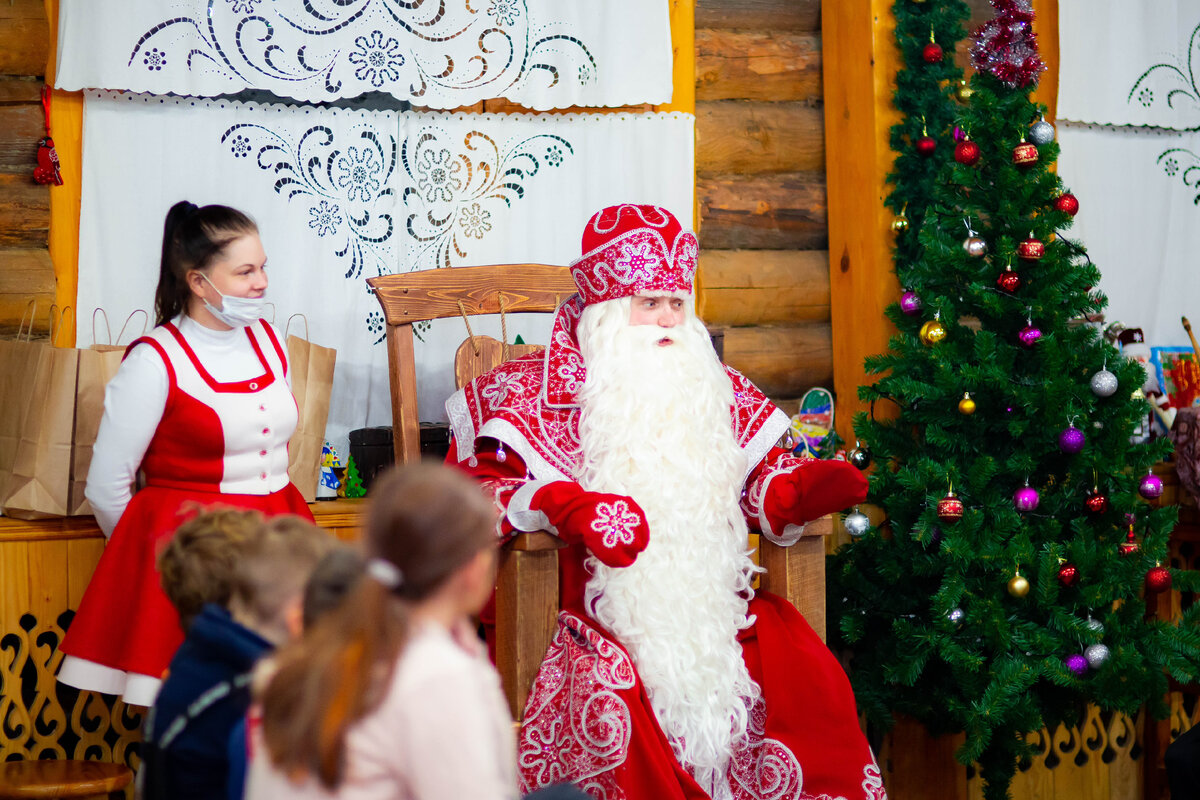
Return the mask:
[[[1030,2],[992,6],[961,86],[962,4],[896,4],[908,66],[889,201],[908,223],[895,225],[905,291],[889,351],[868,360],[880,378],[860,389],[872,413],[851,455],[874,462],[887,519],[856,519],[829,575],[832,644],[852,654],[859,708],[884,727],[899,712],[965,733],[958,758],[978,764],[989,800],[1008,795],[1028,734],[1075,723],[1086,703],[1156,706],[1166,674],[1194,679],[1200,657],[1198,609],[1182,625],[1146,616],[1145,595],[1172,581],[1175,511],[1151,503],[1169,447],[1130,443],[1145,374],[1087,321],[1106,301],[1066,235],[1079,201],[1028,96],[1042,70]]]

